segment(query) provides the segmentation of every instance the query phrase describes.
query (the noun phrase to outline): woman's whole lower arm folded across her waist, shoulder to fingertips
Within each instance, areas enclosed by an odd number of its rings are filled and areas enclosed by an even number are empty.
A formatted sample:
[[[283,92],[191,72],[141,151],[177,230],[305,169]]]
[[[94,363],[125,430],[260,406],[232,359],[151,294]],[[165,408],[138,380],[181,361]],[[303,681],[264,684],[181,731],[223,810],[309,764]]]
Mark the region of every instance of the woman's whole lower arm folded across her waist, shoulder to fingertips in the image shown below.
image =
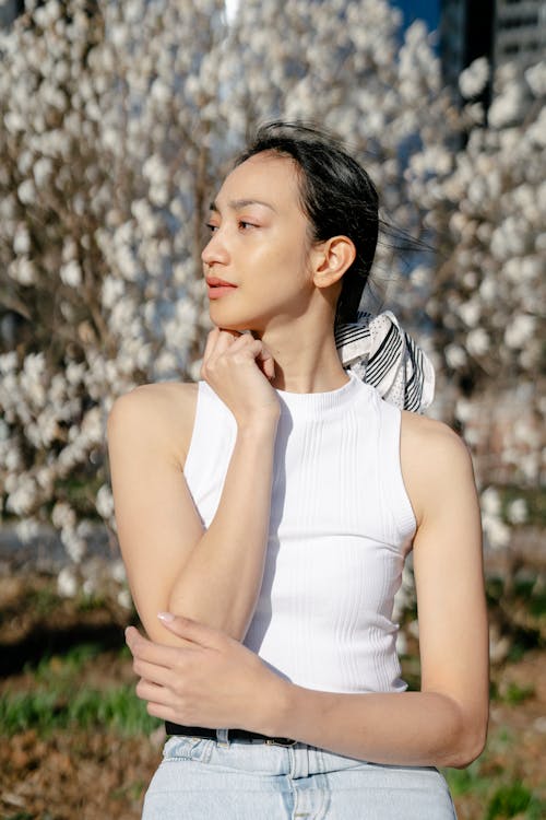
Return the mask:
[[[142,677],[138,693],[151,714],[292,737],[376,763],[464,766],[480,753],[488,637],[472,464],[444,425],[404,414],[403,427],[403,472],[418,522],[422,691],[340,694],[298,687],[227,636],[176,619],[165,625],[191,642],[188,651],[128,632]]]

